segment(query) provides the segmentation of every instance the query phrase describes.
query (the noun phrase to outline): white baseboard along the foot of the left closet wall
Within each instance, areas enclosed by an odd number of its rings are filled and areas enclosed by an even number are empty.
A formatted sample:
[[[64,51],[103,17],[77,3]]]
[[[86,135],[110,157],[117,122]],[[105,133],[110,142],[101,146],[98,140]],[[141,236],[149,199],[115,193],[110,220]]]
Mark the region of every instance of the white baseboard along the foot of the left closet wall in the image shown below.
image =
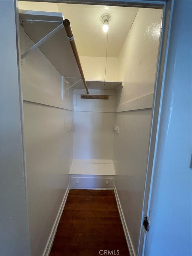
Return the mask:
[[[65,206],[65,203],[67,201],[67,196],[68,196],[68,193],[69,193],[69,189],[70,189],[70,186],[68,185],[67,190],[66,190],[66,192],[64,194],[61,206],[60,206],[60,208],[58,210],[58,214],[57,214],[57,217],[55,219],[55,223],[54,223],[54,225],[52,227],[51,233],[50,233],[49,238],[47,240],[47,243],[46,243],[46,246],[45,246],[45,250],[43,252],[43,256],[48,256],[50,251],[51,251],[52,243],[53,243],[53,240],[55,238],[56,231],[57,231],[57,226],[59,224],[59,220],[61,218],[61,215],[62,215],[64,206]]]

